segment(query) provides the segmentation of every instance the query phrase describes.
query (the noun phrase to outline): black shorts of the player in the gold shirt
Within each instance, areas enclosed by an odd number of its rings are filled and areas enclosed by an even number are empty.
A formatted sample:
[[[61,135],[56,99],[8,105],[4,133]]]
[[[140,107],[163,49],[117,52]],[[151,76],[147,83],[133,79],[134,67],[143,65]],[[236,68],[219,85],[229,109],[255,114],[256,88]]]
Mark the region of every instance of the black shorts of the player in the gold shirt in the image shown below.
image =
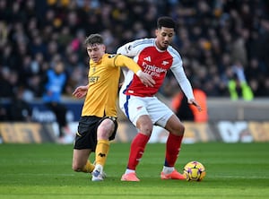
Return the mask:
[[[74,149],[90,149],[95,151],[97,144],[97,128],[100,123],[109,118],[114,122],[115,129],[109,140],[114,140],[117,133],[117,118],[116,117],[81,117],[75,134]]]

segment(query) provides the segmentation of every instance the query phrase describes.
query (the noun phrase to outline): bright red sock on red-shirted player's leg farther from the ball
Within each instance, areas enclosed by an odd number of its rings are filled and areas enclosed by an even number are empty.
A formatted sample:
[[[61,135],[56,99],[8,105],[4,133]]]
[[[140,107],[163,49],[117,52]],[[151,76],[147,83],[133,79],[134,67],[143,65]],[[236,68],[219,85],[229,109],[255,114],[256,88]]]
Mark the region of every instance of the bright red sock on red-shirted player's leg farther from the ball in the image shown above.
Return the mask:
[[[139,161],[143,156],[143,151],[149,139],[150,137],[145,134],[136,134],[133,142],[131,143],[127,169],[135,170],[136,166],[138,165]]]

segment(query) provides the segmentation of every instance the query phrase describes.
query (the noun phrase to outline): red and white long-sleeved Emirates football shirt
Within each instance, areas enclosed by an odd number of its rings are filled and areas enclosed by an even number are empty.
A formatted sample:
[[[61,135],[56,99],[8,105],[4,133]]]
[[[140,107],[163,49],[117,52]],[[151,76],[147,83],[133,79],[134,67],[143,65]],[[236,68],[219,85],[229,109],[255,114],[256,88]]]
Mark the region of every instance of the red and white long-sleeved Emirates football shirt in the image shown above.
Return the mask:
[[[168,70],[171,69],[187,98],[194,99],[191,84],[182,66],[181,56],[171,46],[161,51],[156,47],[155,39],[137,39],[118,48],[117,54],[134,57],[134,61],[141,66],[143,72],[151,74],[156,82],[154,87],[145,87],[132,71],[125,71],[125,82],[121,91],[126,95],[154,96],[159,91]]]

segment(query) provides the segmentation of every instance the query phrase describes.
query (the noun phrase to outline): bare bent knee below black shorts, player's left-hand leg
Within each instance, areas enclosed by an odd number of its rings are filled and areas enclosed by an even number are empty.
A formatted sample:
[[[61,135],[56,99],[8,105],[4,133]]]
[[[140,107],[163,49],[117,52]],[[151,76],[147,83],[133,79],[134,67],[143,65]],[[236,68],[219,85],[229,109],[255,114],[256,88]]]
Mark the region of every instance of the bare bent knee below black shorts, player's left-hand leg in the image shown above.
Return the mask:
[[[90,149],[82,149],[73,151],[73,167],[74,168],[82,168],[87,160],[89,159],[89,155],[91,153]]]

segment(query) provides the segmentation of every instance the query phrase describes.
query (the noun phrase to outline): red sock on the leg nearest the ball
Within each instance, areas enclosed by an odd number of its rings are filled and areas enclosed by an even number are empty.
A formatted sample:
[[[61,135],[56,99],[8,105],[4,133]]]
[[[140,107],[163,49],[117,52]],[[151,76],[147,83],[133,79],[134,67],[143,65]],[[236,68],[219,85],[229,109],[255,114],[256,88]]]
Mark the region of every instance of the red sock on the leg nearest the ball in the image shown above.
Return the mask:
[[[174,167],[178,159],[178,153],[182,143],[183,135],[175,135],[169,133],[168,140],[166,142],[166,154],[165,154],[165,167]]]

